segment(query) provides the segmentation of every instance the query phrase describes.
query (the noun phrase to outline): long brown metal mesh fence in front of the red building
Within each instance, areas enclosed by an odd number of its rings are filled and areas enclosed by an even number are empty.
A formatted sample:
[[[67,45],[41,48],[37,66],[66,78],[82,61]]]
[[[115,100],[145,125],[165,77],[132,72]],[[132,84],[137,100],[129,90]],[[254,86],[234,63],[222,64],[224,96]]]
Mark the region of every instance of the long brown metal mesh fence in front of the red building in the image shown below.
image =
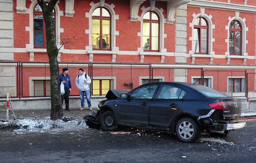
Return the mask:
[[[108,89],[133,89],[147,82],[192,82],[216,89],[229,97],[255,98],[254,70],[217,70],[203,68],[164,68],[149,63],[59,62],[59,71],[69,68],[72,91],[78,69],[90,76],[91,96],[104,96]],[[0,98],[50,97],[50,66],[48,62],[0,61]],[[154,68],[152,68],[154,67]],[[248,71],[248,72],[246,72]],[[249,92],[249,93],[248,93]]]

